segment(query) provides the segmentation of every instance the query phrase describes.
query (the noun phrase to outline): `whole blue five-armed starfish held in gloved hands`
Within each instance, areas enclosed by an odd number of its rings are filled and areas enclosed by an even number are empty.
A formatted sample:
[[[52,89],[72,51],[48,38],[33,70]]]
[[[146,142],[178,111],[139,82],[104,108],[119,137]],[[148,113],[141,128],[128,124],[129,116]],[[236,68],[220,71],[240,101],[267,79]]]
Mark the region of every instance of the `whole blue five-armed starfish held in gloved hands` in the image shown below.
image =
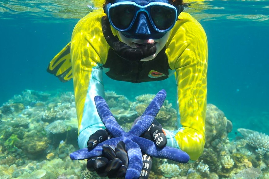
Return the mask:
[[[98,144],[94,149],[88,150],[83,148],[70,154],[72,160],[83,160],[87,158],[98,157],[102,155],[104,144],[108,144],[116,148],[118,142],[123,141],[128,154],[129,166],[126,171],[125,179],[137,179],[142,170],[142,152],[156,158],[167,158],[179,163],[187,163],[189,155],[180,149],[165,146],[158,148],[153,141],[139,137],[152,124],[152,121],[158,114],[166,98],[165,90],[157,93],[150,102],[140,120],[131,128],[129,132],[125,132],[115,120],[106,101],[100,96],[94,98],[97,112],[104,123],[106,129],[114,138],[105,140]]]

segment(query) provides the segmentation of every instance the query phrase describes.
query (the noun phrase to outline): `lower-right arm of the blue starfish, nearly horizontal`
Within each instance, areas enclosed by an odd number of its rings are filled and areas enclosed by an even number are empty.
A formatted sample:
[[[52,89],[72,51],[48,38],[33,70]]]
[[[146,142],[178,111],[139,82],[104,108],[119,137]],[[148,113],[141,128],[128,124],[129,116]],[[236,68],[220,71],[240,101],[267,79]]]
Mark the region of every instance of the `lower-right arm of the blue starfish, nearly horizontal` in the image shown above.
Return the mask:
[[[153,141],[138,137],[138,136],[133,136],[132,137],[133,141],[139,145],[141,150],[155,158],[167,158],[169,160],[173,160],[175,162],[179,163],[188,163],[190,157],[189,155],[178,149],[178,148],[173,148],[170,146],[165,146],[164,148],[160,149],[156,147]]]

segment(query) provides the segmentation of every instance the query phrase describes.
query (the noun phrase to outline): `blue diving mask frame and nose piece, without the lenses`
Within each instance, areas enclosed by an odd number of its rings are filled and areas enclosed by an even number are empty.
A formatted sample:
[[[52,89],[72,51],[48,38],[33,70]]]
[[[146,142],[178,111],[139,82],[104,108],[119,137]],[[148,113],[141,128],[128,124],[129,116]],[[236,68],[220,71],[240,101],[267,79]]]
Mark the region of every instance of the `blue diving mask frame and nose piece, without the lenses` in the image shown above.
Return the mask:
[[[134,6],[136,11],[134,18],[130,22],[129,26],[122,29],[113,23],[110,17],[110,10],[113,7],[121,6],[121,5],[131,5]],[[159,29],[151,15],[150,15],[150,7],[152,6],[164,6],[174,11],[175,15],[172,19],[173,23],[167,29]],[[118,0],[115,3],[109,3],[104,6],[104,12],[107,14],[110,24],[117,30],[122,32],[127,38],[136,38],[136,39],[159,39],[163,37],[166,32],[170,31],[179,16],[179,13],[183,11],[183,6],[175,7],[169,4],[168,0],[159,0],[157,2],[153,1],[144,1],[144,0],[135,0],[135,1],[126,1],[126,0]],[[136,23],[136,24],[135,24]],[[136,26],[134,26],[134,24]]]

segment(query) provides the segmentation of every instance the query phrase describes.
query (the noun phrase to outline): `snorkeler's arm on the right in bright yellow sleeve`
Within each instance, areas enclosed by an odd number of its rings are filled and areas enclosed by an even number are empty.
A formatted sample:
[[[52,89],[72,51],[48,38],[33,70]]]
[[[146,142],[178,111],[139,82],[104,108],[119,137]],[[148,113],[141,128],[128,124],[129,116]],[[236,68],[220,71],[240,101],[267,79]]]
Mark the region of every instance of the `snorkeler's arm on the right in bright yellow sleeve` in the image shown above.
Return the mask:
[[[168,145],[197,160],[205,144],[208,44],[203,27],[181,13],[169,39],[170,68],[176,71],[178,130],[167,131]]]

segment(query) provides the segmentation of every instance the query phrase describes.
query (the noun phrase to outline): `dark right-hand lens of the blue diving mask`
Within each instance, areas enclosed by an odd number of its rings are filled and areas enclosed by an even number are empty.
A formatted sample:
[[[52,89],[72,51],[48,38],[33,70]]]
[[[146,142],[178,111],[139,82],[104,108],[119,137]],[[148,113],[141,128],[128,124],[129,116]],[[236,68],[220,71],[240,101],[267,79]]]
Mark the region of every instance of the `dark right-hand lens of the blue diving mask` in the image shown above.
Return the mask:
[[[152,6],[150,15],[159,30],[166,30],[174,24],[176,12],[169,7]]]

